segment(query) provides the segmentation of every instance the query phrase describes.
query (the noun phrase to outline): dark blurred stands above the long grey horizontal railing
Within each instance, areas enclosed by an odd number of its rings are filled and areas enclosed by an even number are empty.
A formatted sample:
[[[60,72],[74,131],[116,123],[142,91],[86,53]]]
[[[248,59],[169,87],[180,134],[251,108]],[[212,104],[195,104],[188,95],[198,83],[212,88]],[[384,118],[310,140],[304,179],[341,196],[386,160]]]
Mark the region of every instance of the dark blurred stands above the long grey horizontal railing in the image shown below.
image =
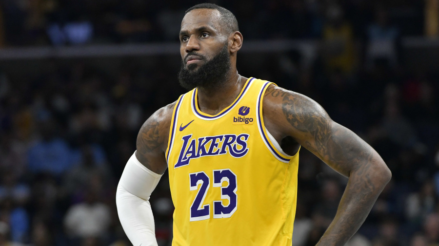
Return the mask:
[[[428,2],[429,0],[427,0]],[[344,16],[348,35],[379,35],[374,20],[388,10],[403,35],[424,32],[424,1],[419,0],[214,0],[239,19],[249,39],[320,38],[328,19]],[[177,41],[184,11],[197,0],[1,0],[0,44],[78,45]],[[341,23],[344,24],[344,23]],[[384,23],[385,24],[385,23]],[[395,33],[392,35],[396,35]]]

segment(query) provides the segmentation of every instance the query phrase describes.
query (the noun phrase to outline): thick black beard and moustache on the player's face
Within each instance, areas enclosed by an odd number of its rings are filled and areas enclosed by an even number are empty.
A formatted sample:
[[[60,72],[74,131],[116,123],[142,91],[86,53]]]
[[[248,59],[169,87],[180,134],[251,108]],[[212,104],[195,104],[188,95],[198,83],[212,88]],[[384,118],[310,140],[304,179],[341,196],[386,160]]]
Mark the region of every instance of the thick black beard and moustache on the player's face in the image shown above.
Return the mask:
[[[190,55],[200,56],[196,52],[191,52],[187,56]],[[205,58],[204,56],[200,57]],[[179,82],[183,88],[189,91],[195,87],[202,87],[209,91],[219,89],[226,82],[231,68],[227,44],[221,48],[218,55],[194,71],[196,67],[197,64],[190,64],[188,66],[189,69],[186,69],[184,67],[184,60],[181,60]]]

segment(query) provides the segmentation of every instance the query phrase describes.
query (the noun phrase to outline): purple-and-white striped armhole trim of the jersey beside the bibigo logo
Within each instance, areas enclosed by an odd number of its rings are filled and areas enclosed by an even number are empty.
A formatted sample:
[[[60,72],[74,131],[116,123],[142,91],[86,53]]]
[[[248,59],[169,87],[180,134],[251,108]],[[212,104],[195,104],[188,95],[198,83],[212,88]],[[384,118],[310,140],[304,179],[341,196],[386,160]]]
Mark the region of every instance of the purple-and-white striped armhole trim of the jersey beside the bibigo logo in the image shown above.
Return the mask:
[[[270,84],[276,85],[273,82],[266,81],[260,89],[258,100],[256,102],[256,107],[257,107],[256,114],[257,114],[258,129],[259,129],[259,133],[260,133],[260,136],[262,138],[262,141],[265,143],[265,146],[273,154],[273,156],[276,157],[276,159],[278,159],[281,162],[289,163],[290,160],[294,157],[294,155],[293,156],[287,155],[285,152],[282,151],[282,149],[280,149],[279,143],[277,143],[277,142],[274,143],[276,140],[271,136],[271,134],[265,128],[264,120],[262,117],[262,101],[263,101],[265,91],[267,90],[267,88]]]

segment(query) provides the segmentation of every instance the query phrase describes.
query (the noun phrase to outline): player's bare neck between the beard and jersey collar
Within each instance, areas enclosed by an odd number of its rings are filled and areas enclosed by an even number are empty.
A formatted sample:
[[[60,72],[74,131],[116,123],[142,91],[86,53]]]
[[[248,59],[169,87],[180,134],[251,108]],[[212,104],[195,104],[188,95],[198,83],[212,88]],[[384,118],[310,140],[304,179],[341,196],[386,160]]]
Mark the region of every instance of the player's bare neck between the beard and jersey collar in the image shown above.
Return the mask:
[[[197,87],[198,107],[201,112],[210,115],[220,113],[235,101],[246,81],[247,78],[240,76],[238,71],[235,71],[219,89],[206,90]]]

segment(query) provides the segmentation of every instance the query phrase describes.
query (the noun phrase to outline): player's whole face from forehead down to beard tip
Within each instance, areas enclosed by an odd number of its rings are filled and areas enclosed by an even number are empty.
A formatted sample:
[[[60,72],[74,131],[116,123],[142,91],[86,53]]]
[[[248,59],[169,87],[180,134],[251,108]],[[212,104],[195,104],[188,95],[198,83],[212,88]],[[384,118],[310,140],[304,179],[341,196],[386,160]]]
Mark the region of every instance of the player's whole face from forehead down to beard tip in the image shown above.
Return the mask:
[[[180,85],[219,89],[231,68],[227,37],[221,34],[220,14],[212,9],[195,9],[181,22]]]

